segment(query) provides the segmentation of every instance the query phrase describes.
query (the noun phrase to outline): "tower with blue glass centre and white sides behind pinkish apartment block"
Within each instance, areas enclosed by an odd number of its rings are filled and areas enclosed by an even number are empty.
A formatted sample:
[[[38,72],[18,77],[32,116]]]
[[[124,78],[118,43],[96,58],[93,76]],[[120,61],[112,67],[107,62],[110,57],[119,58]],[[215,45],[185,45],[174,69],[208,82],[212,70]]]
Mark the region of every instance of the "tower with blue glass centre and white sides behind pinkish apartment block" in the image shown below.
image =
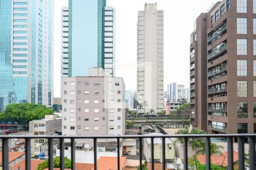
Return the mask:
[[[105,0],[69,0],[61,11],[61,76],[101,67],[114,76],[115,10]]]

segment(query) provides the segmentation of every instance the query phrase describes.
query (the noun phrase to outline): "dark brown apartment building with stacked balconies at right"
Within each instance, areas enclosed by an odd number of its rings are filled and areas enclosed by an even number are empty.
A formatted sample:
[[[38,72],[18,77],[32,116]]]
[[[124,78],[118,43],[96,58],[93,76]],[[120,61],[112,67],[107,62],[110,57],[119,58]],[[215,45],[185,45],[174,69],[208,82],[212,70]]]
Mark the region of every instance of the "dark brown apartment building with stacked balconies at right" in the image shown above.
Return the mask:
[[[256,0],[224,0],[191,33],[191,123],[210,133],[256,133]]]

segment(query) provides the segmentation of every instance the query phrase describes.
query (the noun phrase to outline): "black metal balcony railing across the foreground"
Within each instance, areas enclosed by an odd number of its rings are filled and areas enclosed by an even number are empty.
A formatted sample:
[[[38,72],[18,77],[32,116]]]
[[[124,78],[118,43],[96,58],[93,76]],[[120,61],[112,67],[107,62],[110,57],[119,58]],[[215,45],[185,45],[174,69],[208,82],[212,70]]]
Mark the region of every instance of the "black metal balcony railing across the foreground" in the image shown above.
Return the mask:
[[[22,138],[26,140],[26,169],[31,169],[31,139],[46,138],[48,139],[48,169],[53,169],[53,139],[60,141],[60,169],[64,169],[64,139],[71,140],[71,169],[76,169],[75,164],[75,139],[92,139],[93,140],[93,157],[94,169],[97,170],[97,139],[115,139],[117,141],[117,169],[121,169],[120,164],[120,141],[121,139],[137,138],[139,141],[139,169],[142,170],[142,139],[150,138],[151,140],[151,159],[154,160],[154,138],[162,139],[162,169],[166,169],[166,138],[182,138],[183,139],[183,154],[184,154],[184,169],[188,169],[188,139],[189,138],[205,138],[205,153],[206,153],[206,169],[210,170],[210,138],[228,138],[228,169],[233,169],[233,139],[238,138],[238,168],[245,169],[245,153],[244,153],[244,138],[249,138],[250,156],[249,168],[255,169],[255,138],[256,134],[186,134],[186,135],[122,135],[122,136],[44,136],[44,137],[28,137],[28,136],[1,136],[2,152],[3,152],[3,170],[9,169],[9,139]],[[151,169],[154,169],[154,163],[151,163]],[[99,169],[100,170],[100,169]]]

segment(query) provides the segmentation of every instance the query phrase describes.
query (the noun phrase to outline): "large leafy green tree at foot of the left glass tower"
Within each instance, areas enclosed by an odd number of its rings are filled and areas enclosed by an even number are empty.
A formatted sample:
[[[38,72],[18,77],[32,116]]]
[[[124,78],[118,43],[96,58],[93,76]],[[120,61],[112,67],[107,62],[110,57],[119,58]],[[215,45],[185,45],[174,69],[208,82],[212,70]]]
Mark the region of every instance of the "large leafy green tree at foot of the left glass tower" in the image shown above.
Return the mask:
[[[5,111],[0,114],[0,120],[16,121],[19,125],[28,125],[32,120],[44,118],[46,114],[52,114],[53,110],[45,105],[20,103],[9,104]]]

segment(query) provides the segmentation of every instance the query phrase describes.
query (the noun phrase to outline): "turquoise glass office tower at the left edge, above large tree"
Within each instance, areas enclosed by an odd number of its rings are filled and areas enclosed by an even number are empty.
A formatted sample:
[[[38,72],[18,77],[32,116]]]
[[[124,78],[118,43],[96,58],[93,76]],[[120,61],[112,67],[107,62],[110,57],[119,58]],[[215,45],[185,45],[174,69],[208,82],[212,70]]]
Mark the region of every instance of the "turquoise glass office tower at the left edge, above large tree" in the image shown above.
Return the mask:
[[[53,1],[0,1],[0,112],[53,102]]]

